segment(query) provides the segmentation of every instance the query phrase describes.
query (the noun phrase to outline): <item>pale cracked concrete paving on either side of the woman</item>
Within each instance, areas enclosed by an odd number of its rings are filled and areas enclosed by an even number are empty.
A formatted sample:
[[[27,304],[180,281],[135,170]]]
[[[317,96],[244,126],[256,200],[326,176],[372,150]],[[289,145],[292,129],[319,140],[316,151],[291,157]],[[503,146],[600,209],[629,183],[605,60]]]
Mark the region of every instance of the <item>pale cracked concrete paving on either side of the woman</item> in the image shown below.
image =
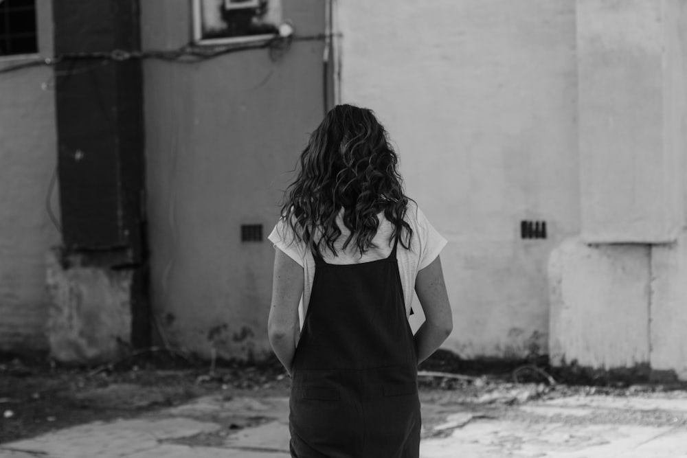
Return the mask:
[[[499,385],[425,390],[420,455],[687,457],[687,392]],[[128,420],[94,422],[0,444],[2,458],[286,458],[288,399],[204,396]],[[383,458],[383,457],[380,457]]]

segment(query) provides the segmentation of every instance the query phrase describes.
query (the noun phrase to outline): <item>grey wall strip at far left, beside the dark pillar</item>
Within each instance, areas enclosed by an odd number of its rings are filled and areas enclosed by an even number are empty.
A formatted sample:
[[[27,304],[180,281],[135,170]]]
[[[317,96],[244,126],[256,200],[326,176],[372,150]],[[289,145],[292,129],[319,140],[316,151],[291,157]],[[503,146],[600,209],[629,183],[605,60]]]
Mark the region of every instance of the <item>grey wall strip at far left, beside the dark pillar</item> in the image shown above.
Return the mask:
[[[51,3],[36,2],[41,57],[52,56]],[[0,68],[22,60],[0,57]],[[45,209],[57,161],[52,73],[0,75],[0,352],[47,350],[45,259],[60,242]],[[59,217],[57,193],[50,202]]]

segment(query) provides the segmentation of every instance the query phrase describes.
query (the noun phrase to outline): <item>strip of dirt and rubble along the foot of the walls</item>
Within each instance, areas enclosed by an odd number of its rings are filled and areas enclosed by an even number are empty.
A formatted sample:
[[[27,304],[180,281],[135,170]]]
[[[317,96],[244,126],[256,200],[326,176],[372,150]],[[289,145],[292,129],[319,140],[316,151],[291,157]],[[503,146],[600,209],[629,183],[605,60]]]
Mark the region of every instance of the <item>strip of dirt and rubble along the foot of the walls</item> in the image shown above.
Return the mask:
[[[559,375],[554,379],[549,368],[536,360],[478,363],[443,350],[420,365],[419,375],[420,390],[427,400],[460,406],[464,411],[462,417],[438,423],[429,420],[426,434],[431,437],[480,418],[475,415],[496,415],[529,402],[570,396],[651,397],[668,389],[649,384],[565,385],[566,380]],[[241,393],[256,398],[283,397],[288,396],[290,387],[291,379],[276,358],[260,363],[208,363],[160,349],[98,367],[5,358],[0,359],[0,443],[95,420],[135,417],[202,396],[218,395],[223,400]],[[441,415],[438,412],[436,417]],[[233,429],[245,427],[238,420],[232,422]],[[225,429],[231,431],[232,425]]]

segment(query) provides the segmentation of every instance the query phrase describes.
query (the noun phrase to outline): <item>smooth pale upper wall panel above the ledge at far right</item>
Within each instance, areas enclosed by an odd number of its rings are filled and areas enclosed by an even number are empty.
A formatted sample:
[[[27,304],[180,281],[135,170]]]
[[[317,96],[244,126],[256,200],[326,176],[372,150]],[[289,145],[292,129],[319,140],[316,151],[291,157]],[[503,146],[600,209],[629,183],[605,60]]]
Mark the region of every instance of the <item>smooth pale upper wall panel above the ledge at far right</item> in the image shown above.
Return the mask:
[[[674,242],[684,225],[684,3],[577,1],[587,242]]]

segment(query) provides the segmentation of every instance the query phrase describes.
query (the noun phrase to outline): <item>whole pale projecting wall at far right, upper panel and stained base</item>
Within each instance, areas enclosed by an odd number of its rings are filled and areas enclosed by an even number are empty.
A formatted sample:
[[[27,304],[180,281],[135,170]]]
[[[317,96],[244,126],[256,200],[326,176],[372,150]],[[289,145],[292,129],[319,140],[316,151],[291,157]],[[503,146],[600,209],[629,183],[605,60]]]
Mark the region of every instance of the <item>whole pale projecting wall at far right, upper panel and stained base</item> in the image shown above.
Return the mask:
[[[581,239],[552,256],[551,354],[687,380],[687,1],[578,0]]]

